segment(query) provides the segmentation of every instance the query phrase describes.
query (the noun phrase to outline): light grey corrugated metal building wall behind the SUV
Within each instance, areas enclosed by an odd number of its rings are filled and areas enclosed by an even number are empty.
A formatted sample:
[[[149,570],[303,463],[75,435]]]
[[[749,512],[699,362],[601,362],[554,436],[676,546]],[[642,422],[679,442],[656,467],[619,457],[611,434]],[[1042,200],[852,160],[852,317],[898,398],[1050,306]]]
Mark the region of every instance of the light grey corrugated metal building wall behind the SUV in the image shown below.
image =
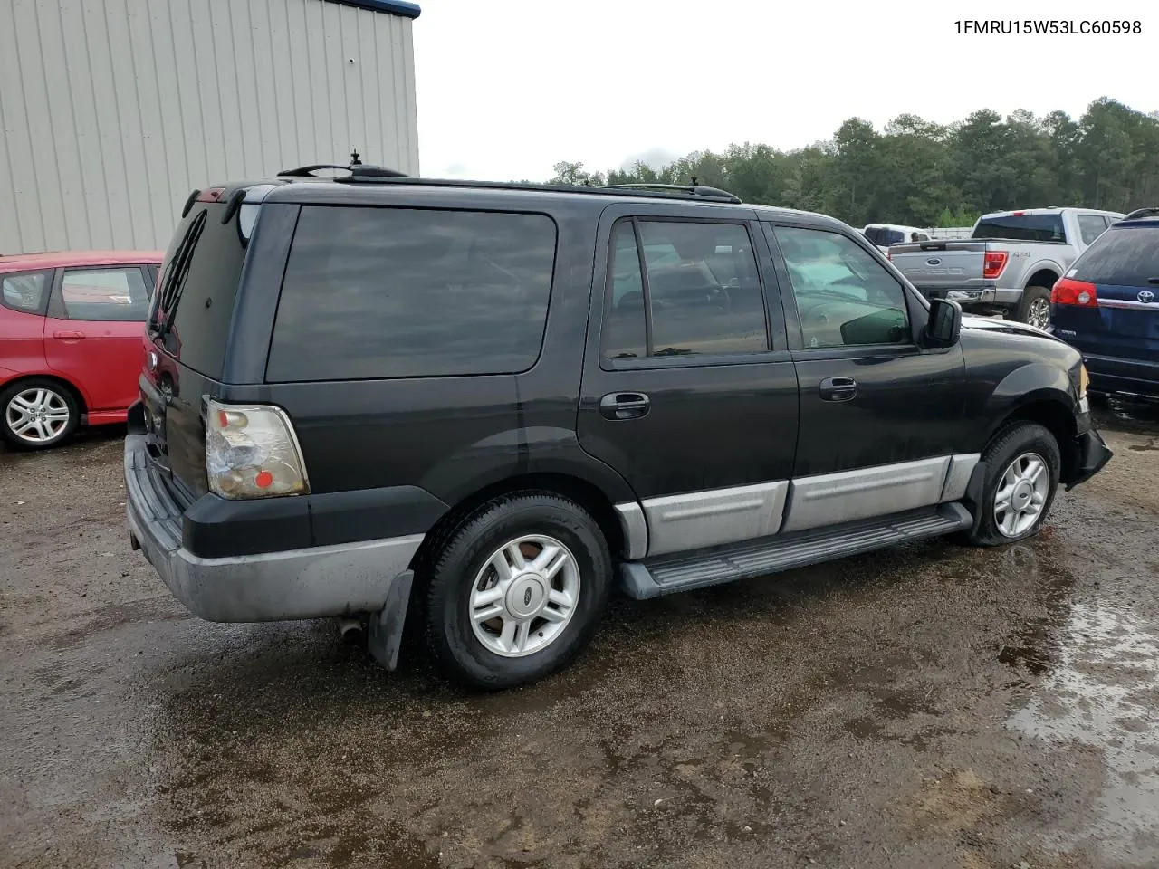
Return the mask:
[[[325,0],[0,0],[0,254],[165,248],[189,191],[418,171],[408,19]]]

